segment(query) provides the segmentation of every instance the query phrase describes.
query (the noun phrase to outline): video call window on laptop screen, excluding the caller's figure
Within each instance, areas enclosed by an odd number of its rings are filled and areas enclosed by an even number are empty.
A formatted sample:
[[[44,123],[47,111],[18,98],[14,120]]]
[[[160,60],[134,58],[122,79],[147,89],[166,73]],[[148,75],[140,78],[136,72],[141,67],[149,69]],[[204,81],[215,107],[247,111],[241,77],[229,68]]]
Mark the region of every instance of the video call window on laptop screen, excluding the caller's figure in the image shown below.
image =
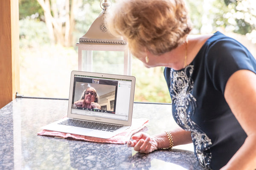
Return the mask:
[[[116,94],[118,88],[117,80],[89,78],[89,77],[74,77],[73,90],[73,109],[80,109],[85,111],[96,111],[102,113],[115,113],[116,111]],[[76,101],[82,101],[83,98],[92,93],[85,92],[88,88],[94,88],[96,93],[93,93],[94,98],[98,100],[92,101],[100,105],[99,108],[86,108],[81,105],[76,105]],[[88,91],[91,91],[89,89]],[[96,97],[97,96],[97,97]]]

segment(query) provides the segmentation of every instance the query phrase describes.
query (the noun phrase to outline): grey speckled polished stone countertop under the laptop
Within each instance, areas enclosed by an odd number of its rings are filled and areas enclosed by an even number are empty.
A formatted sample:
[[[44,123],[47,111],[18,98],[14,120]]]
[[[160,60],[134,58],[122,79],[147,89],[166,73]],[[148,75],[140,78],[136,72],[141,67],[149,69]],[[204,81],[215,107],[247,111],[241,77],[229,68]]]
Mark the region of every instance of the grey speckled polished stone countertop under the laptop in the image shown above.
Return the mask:
[[[159,133],[177,126],[171,105],[134,104],[133,118],[145,117],[143,130]],[[150,154],[123,144],[38,136],[40,127],[67,114],[67,100],[15,99],[0,109],[0,170],[203,170],[192,145]]]

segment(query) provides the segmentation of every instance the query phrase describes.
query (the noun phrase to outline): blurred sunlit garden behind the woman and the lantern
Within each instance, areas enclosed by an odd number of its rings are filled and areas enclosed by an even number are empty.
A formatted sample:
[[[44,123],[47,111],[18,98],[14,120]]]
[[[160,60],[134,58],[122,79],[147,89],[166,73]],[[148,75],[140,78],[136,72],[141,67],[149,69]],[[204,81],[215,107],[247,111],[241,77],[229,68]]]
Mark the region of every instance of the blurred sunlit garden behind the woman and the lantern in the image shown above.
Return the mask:
[[[20,94],[68,98],[70,73],[78,70],[76,43],[102,11],[99,3],[100,0],[19,0]],[[256,57],[255,0],[186,0],[186,5],[193,23],[191,34],[221,31],[239,40]],[[93,57],[100,65],[120,67],[121,72],[116,74],[122,74],[123,57],[115,55],[119,54],[110,51],[106,57],[106,52],[97,51]],[[97,65],[93,71],[108,73],[112,69]],[[144,68],[133,57],[135,102],[171,102],[163,69]]]

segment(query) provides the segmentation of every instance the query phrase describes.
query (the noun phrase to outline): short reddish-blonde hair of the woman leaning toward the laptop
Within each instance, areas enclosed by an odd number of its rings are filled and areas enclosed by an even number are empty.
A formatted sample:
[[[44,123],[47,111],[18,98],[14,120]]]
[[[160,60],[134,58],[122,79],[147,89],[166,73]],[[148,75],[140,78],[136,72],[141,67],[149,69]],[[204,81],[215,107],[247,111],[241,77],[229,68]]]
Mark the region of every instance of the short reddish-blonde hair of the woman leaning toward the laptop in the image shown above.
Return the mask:
[[[108,29],[136,56],[171,51],[192,29],[183,0],[117,0],[106,14]]]

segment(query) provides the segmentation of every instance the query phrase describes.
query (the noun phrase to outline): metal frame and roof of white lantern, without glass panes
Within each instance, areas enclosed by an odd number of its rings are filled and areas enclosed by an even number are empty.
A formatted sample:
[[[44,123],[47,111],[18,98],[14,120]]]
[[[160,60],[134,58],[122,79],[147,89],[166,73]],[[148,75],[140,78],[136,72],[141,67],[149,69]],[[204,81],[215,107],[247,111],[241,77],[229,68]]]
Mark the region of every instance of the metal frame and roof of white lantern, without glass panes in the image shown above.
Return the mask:
[[[92,23],[89,30],[81,38],[78,47],[78,70],[82,70],[82,59],[85,56],[84,71],[93,70],[92,51],[123,51],[124,52],[124,74],[131,75],[131,52],[128,50],[127,43],[119,37],[113,36],[106,27],[105,14],[111,6],[111,0],[101,0],[100,7],[103,9],[99,17]],[[85,53],[83,53],[83,51]]]

